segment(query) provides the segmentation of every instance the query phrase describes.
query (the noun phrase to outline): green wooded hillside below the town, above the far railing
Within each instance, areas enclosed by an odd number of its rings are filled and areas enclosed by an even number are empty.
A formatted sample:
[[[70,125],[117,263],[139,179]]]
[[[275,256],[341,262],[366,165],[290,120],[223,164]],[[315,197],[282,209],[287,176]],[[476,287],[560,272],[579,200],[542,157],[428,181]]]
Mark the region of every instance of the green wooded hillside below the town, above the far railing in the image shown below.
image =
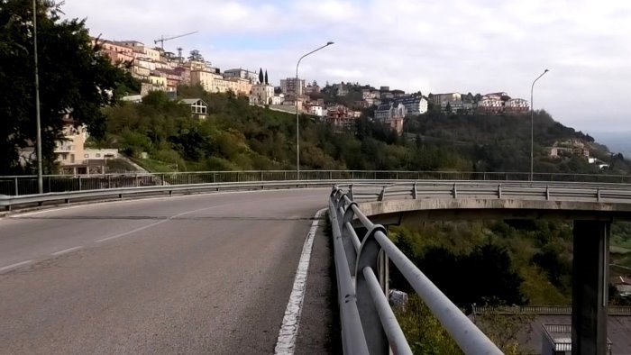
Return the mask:
[[[105,137],[92,144],[117,148],[153,170],[291,169],[296,161],[296,116],[251,106],[245,97],[209,94],[181,86],[180,98],[202,98],[207,118],[191,117],[160,92],[142,104],[105,109]],[[405,139],[403,138],[405,137]],[[301,168],[383,170],[528,171],[530,116],[444,115],[430,112],[407,120],[398,136],[367,115],[355,132],[300,118]],[[599,173],[587,159],[569,154],[549,158],[548,147],[579,142],[610,165],[608,173],[629,171],[628,161],[612,157],[582,132],[535,114],[535,171]],[[143,154],[146,153],[146,154]],[[147,159],[141,159],[147,156]]]

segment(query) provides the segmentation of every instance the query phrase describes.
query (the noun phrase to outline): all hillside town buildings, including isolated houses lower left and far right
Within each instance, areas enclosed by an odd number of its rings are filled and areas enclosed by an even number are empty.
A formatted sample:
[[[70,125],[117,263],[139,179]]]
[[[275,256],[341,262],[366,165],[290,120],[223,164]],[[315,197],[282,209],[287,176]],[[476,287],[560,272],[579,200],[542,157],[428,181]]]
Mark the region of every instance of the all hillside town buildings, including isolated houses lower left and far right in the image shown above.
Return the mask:
[[[191,50],[187,58],[182,49],[178,53],[152,47],[140,41],[107,41],[93,39],[100,53],[111,62],[127,70],[141,82],[141,92],[123,96],[123,101],[142,102],[142,97],[152,91],[162,91],[178,104],[190,107],[191,116],[205,120],[208,104],[198,97],[179,97],[178,86],[202,86],[209,93],[232,93],[247,97],[250,105],[260,105],[287,113],[310,114],[321,122],[329,123],[338,130],[353,131],[357,120],[365,115],[369,120],[383,123],[399,135],[404,121],[427,113],[429,110],[443,114],[524,114],[529,112],[525,99],[511,98],[506,92],[486,95],[461,94],[458,92],[428,94],[406,93],[359,83],[334,83],[319,86],[316,81],[287,77],[279,85],[271,84],[267,70],[230,68],[221,70],[204,59],[198,50]],[[162,43],[163,44],[163,43]],[[105,172],[107,159],[124,159],[117,150],[92,150],[85,147],[89,132],[85,127],[69,124],[65,141],[59,141],[55,150],[60,172],[63,174],[98,174]],[[32,155],[32,151],[24,156]],[[591,164],[599,164],[590,158],[590,150],[580,141],[558,142],[549,148],[549,157],[578,155]]]

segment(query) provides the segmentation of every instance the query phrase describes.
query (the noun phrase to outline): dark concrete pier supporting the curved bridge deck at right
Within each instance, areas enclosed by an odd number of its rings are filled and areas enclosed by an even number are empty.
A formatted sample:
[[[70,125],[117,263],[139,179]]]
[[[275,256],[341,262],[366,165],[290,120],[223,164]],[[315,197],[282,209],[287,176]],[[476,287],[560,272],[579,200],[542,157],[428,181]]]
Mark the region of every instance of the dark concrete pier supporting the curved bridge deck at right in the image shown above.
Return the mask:
[[[607,354],[609,221],[574,221],[572,355]]]

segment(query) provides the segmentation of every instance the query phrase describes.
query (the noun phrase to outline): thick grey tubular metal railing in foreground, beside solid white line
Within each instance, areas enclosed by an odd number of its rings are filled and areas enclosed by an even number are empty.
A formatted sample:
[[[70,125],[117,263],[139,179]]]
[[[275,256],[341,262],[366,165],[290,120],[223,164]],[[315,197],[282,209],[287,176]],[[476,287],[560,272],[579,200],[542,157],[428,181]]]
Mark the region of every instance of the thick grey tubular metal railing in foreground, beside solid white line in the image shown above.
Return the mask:
[[[385,354],[389,348],[397,354],[412,353],[385,296],[389,260],[465,353],[502,353],[398,250],[388,239],[383,226],[371,223],[361,213],[350,191],[334,187],[329,215],[334,237],[344,353]],[[361,242],[352,227],[355,218],[368,231]]]

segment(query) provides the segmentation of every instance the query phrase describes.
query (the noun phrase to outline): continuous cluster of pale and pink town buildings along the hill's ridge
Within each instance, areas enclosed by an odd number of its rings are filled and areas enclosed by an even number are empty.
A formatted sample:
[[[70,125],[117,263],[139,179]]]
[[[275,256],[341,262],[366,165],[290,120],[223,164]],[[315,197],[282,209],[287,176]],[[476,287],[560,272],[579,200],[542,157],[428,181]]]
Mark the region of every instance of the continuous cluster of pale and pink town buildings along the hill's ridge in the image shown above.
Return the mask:
[[[279,85],[270,83],[268,72],[260,68],[230,68],[222,71],[206,61],[198,50],[191,50],[187,58],[178,53],[165,51],[161,47],[144,45],[140,41],[107,41],[94,39],[101,52],[113,64],[126,68],[142,82],[140,95],[127,96],[126,101],[140,102],[154,90],[161,90],[176,99],[178,86],[202,86],[210,93],[231,92],[237,96],[249,97],[251,105],[268,105],[272,109],[286,110],[320,117],[326,123],[340,128],[350,128],[361,116],[361,110],[374,107],[373,118],[386,123],[399,134],[403,132],[403,121],[408,116],[425,114],[430,105],[440,107],[444,113],[472,114],[481,111],[487,114],[518,114],[528,112],[528,102],[521,98],[511,98],[508,93],[497,92],[484,96],[480,94],[462,95],[457,92],[429,94],[420,92],[407,94],[403,90],[380,88],[370,85],[336,83],[325,87],[317,82],[307,82],[304,78],[287,77],[279,80]],[[340,105],[335,97],[349,96],[352,91],[356,100],[349,105]],[[333,100],[325,100],[328,93]],[[197,108],[196,108],[197,109]],[[200,108],[201,109],[201,108]],[[200,114],[200,111],[194,112]],[[204,114],[201,114],[204,115]]]

